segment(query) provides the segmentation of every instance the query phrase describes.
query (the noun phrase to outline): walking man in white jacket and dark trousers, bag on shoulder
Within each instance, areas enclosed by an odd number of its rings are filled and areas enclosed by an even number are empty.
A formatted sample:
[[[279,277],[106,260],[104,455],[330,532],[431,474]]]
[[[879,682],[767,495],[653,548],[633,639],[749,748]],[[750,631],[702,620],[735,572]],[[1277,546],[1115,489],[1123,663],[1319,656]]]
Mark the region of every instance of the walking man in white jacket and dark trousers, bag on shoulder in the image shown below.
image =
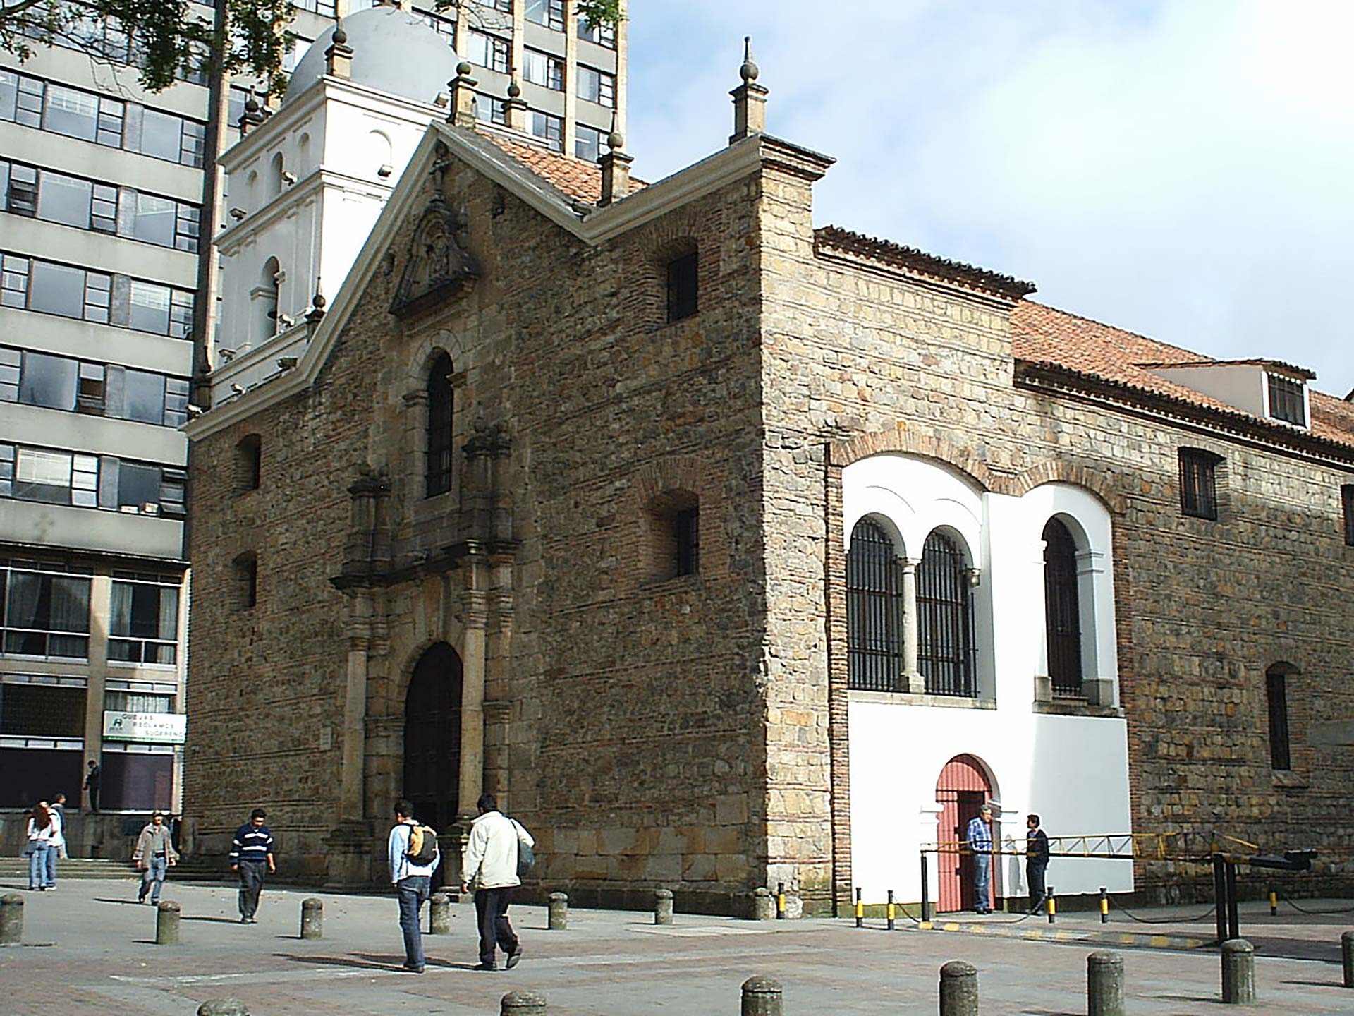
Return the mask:
[[[479,795],[479,817],[470,826],[470,841],[460,859],[460,891],[475,886],[475,917],[479,923],[479,966],[475,970],[497,970],[494,947],[502,948],[512,970],[521,959],[521,943],[508,920],[512,894],[521,879],[517,878],[517,847],[535,847],[520,822],[498,810],[493,794]]]

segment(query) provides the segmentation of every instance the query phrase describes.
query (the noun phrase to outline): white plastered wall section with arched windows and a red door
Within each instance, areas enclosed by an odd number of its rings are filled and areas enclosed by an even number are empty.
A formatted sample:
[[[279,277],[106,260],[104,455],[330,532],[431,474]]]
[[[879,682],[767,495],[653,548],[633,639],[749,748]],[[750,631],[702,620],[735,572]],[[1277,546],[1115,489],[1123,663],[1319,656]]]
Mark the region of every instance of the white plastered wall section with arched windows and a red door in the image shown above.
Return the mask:
[[[1053,515],[1071,530],[1083,570],[1083,668],[1113,680],[1117,703],[1105,505],[1070,484],[1047,484],[1024,497],[986,493],[956,470],[909,455],[862,459],[844,470],[842,482],[844,546],[869,515],[898,541],[900,555],[919,557],[926,534],[942,527],[967,543],[971,564],[982,569],[974,603],[980,707],[849,692],[852,871],[865,899],[883,901],[890,889],[900,901],[921,898],[919,851],[937,839],[936,782],[957,755],[972,755],[991,774],[1003,839],[1024,844],[1028,811],[1040,813],[1049,836],[1131,833],[1124,719],[1051,715],[1033,704],[1034,676],[1047,668],[1041,534]],[[1048,881],[1062,895],[1101,886],[1131,891],[1132,867],[1128,860],[1055,859]],[[1021,859],[1003,858],[998,868],[999,893],[1025,893]]]

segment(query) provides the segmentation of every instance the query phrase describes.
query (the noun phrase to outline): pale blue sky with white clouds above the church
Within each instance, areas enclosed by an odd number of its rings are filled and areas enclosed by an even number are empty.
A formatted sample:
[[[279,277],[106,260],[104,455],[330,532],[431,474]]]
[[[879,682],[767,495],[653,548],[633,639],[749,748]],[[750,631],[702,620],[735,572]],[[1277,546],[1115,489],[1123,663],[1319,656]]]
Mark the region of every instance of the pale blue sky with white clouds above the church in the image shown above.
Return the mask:
[[[834,156],[815,225],[1354,389],[1354,3],[630,0],[634,173],[768,133]]]

